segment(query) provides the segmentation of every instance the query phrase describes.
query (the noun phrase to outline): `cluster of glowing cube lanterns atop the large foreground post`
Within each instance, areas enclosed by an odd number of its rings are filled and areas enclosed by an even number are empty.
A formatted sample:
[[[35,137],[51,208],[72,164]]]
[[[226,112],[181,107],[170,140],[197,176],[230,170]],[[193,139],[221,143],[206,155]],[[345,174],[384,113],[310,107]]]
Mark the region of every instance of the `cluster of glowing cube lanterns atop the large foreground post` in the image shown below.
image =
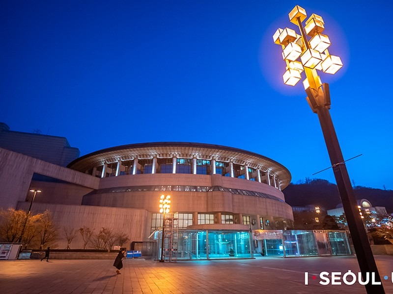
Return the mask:
[[[327,35],[322,34],[325,29],[322,17],[312,14],[303,26],[306,18],[306,10],[296,5],[289,13],[289,20],[299,26],[301,35],[288,27],[279,28],[273,35],[274,43],[282,46],[282,58],[286,62],[282,76],[284,84],[295,86],[302,79],[301,73],[306,71],[305,89],[310,86],[308,79],[316,78],[316,82],[321,84],[316,70],[334,74],[342,67],[340,57],[328,51],[331,42]]]

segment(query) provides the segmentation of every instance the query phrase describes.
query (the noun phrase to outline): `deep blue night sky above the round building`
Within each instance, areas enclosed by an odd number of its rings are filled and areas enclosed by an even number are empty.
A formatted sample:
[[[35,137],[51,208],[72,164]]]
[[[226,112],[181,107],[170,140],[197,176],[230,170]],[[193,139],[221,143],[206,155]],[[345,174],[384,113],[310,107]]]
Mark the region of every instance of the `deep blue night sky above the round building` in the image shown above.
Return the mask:
[[[300,82],[273,43],[299,4],[325,21],[344,67],[321,73],[356,185],[393,189],[391,1],[2,1],[0,121],[63,136],[81,155],[184,141],[270,157],[335,182]]]

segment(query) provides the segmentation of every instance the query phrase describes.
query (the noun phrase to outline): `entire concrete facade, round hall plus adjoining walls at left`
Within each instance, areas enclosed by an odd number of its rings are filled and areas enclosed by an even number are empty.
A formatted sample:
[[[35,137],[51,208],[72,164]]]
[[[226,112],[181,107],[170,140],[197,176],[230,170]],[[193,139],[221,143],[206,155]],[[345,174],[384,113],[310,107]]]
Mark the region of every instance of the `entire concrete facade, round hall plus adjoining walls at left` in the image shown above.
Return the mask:
[[[149,241],[162,226],[162,194],[171,196],[179,228],[286,229],[293,221],[281,192],[290,182],[288,170],[236,148],[133,144],[87,154],[67,167],[0,148],[0,162],[1,208],[27,210],[28,191],[41,190],[32,212],[50,210],[59,228],[106,227],[127,233],[131,241]],[[59,239],[57,246],[65,242]],[[81,243],[78,236],[73,247]]]

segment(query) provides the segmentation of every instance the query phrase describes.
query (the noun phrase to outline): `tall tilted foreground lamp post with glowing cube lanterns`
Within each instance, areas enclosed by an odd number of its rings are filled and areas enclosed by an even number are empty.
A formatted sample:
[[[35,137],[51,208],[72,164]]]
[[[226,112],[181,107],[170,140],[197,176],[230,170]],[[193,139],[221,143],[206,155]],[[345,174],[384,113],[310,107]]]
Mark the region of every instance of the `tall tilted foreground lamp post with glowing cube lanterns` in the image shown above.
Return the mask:
[[[342,67],[342,62],[338,56],[331,55],[328,51],[331,43],[329,37],[322,34],[324,30],[322,17],[312,14],[303,26],[302,22],[306,18],[306,10],[296,5],[289,13],[289,20],[299,26],[301,35],[287,27],[279,28],[273,35],[274,43],[281,45],[283,49],[282,58],[286,63],[286,71],[282,77],[286,85],[294,86],[302,78],[301,73],[303,71],[306,73],[306,79],[303,81],[307,93],[306,99],[311,110],[318,115],[321,124],[363,281],[366,280],[366,276],[369,277],[369,282],[365,285],[366,292],[383,294],[385,291],[368,243],[363,221],[359,215],[351,181],[330,117],[329,85],[322,84],[317,74],[317,70],[334,74]],[[375,275],[374,283],[371,282],[371,275]]]

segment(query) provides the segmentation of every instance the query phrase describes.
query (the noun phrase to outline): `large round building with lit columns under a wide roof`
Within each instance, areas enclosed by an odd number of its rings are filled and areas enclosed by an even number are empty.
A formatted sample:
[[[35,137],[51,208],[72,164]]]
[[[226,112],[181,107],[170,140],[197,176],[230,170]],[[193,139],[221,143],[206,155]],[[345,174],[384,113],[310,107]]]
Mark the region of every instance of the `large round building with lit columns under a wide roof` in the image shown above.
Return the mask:
[[[219,145],[132,144],[82,156],[68,168],[99,177],[83,205],[143,209],[144,237],[162,226],[162,194],[179,228],[284,229],[293,220],[281,190],[289,171],[265,156]],[[140,240],[142,241],[142,240]]]

